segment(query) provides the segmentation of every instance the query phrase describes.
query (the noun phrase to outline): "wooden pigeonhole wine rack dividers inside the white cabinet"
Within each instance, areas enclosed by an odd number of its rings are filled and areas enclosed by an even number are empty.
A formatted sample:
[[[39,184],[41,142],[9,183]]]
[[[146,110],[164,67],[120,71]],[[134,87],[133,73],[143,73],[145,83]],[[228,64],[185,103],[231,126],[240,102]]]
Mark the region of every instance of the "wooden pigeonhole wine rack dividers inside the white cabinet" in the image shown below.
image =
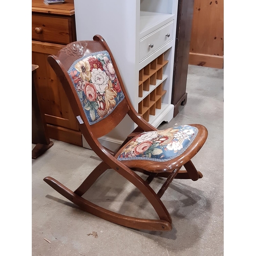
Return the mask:
[[[163,74],[163,67],[167,63],[163,53],[139,71],[138,95],[141,101],[138,104],[138,113],[146,121],[150,120],[150,115],[156,115],[156,109],[161,109],[162,97],[166,93],[162,84],[167,78]]]

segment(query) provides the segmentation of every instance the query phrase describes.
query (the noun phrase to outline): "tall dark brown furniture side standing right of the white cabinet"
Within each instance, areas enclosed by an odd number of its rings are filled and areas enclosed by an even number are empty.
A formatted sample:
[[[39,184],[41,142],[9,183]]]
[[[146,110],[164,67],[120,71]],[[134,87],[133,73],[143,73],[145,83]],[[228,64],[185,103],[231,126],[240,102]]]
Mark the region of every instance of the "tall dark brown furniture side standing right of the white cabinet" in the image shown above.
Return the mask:
[[[179,106],[187,102],[186,83],[193,10],[194,0],[179,0],[172,90],[174,117],[179,113]]]

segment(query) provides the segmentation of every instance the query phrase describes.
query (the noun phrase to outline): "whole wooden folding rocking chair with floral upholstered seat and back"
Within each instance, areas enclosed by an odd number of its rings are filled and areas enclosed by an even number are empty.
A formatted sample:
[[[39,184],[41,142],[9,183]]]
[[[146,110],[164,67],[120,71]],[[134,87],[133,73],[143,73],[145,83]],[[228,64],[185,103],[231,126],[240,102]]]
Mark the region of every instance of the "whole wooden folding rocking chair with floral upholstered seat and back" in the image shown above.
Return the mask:
[[[174,178],[196,181],[203,177],[191,158],[206,141],[206,128],[189,124],[157,130],[145,121],[133,108],[111,50],[100,35],[93,40],[72,42],[57,55],[50,55],[48,62],[62,83],[81,133],[102,162],[75,191],[52,177],[44,181],[82,210],[105,220],[135,229],[171,230],[172,219],[161,197]],[[112,152],[98,138],[113,130],[126,114],[138,126]],[[182,166],[185,170],[180,170]],[[84,199],[84,193],[108,169],[114,169],[134,184],[159,219],[122,215]],[[137,172],[146,174],[147,179],[143,180]],[[166,178],[158,193],[150,186],[155,177]]]

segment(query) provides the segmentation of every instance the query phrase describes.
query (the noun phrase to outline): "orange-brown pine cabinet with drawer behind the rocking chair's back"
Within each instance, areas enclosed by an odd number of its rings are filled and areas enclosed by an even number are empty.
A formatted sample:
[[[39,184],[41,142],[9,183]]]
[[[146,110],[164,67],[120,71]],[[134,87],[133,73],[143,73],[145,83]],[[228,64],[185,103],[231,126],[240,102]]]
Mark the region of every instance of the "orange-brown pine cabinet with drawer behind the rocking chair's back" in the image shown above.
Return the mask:
[[[82,146],[82,135],[66,93],[47,62],[63,46],[76,40],[74,1],[46,5],[32,0],[32,63],[38,65],[37,83],[41,111],[50,138]]]

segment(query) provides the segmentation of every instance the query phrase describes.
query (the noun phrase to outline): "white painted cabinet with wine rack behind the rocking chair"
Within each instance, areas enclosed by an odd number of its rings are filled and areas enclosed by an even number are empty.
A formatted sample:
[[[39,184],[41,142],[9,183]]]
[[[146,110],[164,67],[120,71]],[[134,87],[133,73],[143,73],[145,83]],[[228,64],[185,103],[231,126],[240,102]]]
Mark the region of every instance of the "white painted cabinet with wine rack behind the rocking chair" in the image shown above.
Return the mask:
[[[174,112],[170,102],[178,0],[74,0],[74,4],[77,40],[101,35],[134,108],[155,127],[169,122]],[[115,150],[134,128],[124,118],[100,142]]]

